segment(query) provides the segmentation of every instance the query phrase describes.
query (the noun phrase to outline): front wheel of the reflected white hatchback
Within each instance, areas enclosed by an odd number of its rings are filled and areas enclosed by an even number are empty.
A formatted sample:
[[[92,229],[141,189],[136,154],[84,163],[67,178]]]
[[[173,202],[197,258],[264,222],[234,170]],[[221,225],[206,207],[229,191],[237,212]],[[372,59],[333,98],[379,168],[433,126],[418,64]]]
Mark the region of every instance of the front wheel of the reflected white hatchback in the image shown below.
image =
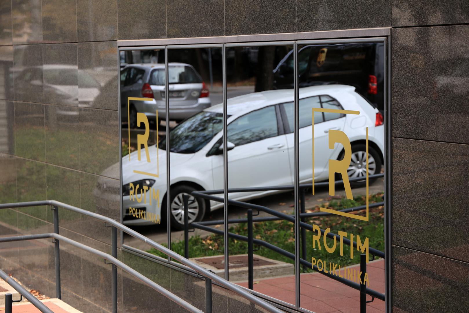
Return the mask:
[[[179,229],[179,230],[182,230],[184,229],[184,214],[182,212],[182,214],[177,214],[177,213],[181,213],[180,211],[178,210],[182,210],[183,211],[183,206],[182,206],[182,195],[183,194],[188,194],[189,195],[189,222],[192,222],[192,221],[202,221],[202,219],[204,218],[204,215],[205,215],[205,211],[206,211],[206,203],[205,203],[205,200],[202,199],[202,198],[195,198],[194,196],[191,195],[191,192],[192,191],[197,191],[196,188],[192,187],[192,186],[187,186],[187,185],[178,185],[178,186],[174,186],[174,187],[171,187],[171,198],[170,198],[170,208],[169,208],[169,211],[170,211],[170,220],[171,220],[171,227],[173,227],[174,229]],[[194,207],[196,206],[196,202],[197,202],[197,214],[195,214],[195,217],[194,217],[194,214],[191,214],[191,210],[193,212]],[[179,204],[181,204],[181,206],[178,208],[176,208]]]

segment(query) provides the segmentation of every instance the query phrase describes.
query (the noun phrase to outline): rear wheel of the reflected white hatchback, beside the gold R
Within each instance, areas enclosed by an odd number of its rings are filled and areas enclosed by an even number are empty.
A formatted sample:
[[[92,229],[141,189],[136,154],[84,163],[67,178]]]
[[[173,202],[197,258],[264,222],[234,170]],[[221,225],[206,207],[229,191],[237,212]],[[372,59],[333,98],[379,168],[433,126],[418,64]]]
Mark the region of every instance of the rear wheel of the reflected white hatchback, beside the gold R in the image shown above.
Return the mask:
[[[354,160],[354,154],[357,156],[357,155],[362,155],[363,157],[363,160],[362,162],[355,162]],[[343,155],[344,153],[342,152],[340,154],[340,157],[338,160],[342,160],[343,159]],[[368,171],[369,175],[373,175],[373,174],[379,174],[381,173],[381,167],[382,167],[382,163],[381,163],[381,158],[379,157],[379,153],[372,147],[372,146],[368,146],[368,161],[369,161],[369,165],[370,165],[370,169]],[[358,169],[358,163],[361,163],[362,166],[364,168],[366,168],[366,145],[363,145],[363,144],[356,144],[356,145],[352,145],[352,160],[350,162],[350,166],[352,167],[352,165],[355,166],[356,169]],[[372,158],[372,159],[371,159]],[[355,158],[356,159],[356,158]],[[357,159],[356,159],[357,160]],[[364,161],[364,162],[363,162]],[[354,164],[355,163],[355,164]],[[372,168],[372,164],[374,163],[374,168]],[[349,170],[347,171],[347,174],[348,174],[348,178],[353,178],[353,177],[356,177],[354,176],[354,172],[352,170]],[[366,170],[363,171],[361,173],[364,178],[363,178],[363,181],[358,181],[358,182],[350,182],[350,187],[351,188],[359,188],[359,187],[364,187],[366,186]],[[340,175],[338,175],[339,177],[336,177],[336,179],[342,179],[342,177],[340,177]],[[360,175],[358,177],[361,177]],[[374,183],[375,181],[377,180],[377,178],[371,178],[370,179],[370,184],[371,183]]]

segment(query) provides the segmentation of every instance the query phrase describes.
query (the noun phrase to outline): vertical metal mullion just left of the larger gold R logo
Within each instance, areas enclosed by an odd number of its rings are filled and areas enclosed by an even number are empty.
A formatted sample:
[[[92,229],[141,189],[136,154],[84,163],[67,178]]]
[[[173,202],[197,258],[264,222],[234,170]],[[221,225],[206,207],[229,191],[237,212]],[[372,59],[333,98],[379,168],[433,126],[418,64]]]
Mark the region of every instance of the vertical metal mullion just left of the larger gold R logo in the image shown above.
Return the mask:
[[[299,216],[300,216],[300,206],[299,206],[299,199],[300,199],[300,135],[299,135],[299,92],[298,92],[298,44],[295,42],[293,45],[293,107],[295,113],[294,119],[294,148],[295,148],[295,298],[296,298],[296,308],[300,307],[300,243],[299,243],[299,234],[300,234],[300,223],[299,223]]]

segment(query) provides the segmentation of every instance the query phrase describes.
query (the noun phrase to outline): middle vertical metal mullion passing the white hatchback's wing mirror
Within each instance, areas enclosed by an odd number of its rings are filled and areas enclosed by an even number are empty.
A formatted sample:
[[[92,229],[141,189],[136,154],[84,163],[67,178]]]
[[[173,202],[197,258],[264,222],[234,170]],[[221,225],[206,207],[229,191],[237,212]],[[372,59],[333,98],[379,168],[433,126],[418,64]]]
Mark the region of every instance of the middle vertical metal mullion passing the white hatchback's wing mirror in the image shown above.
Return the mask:
[[[222,47],[222,79],[223,79],[223,219],[224,219],[224,244],[225,244],[225,279],[228,277],[228,115],[227,115],[227,53],[226,46]]]

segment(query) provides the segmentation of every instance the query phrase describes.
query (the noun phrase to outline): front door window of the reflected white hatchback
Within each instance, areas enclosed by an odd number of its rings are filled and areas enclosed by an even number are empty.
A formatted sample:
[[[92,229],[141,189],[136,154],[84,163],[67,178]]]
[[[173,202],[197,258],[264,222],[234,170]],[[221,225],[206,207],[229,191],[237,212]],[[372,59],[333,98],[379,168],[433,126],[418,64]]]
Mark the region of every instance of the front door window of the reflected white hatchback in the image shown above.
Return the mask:
[[[246,145],[278,134],[275,106],[250,112],[228,125],[228,141],[234,145]]]

